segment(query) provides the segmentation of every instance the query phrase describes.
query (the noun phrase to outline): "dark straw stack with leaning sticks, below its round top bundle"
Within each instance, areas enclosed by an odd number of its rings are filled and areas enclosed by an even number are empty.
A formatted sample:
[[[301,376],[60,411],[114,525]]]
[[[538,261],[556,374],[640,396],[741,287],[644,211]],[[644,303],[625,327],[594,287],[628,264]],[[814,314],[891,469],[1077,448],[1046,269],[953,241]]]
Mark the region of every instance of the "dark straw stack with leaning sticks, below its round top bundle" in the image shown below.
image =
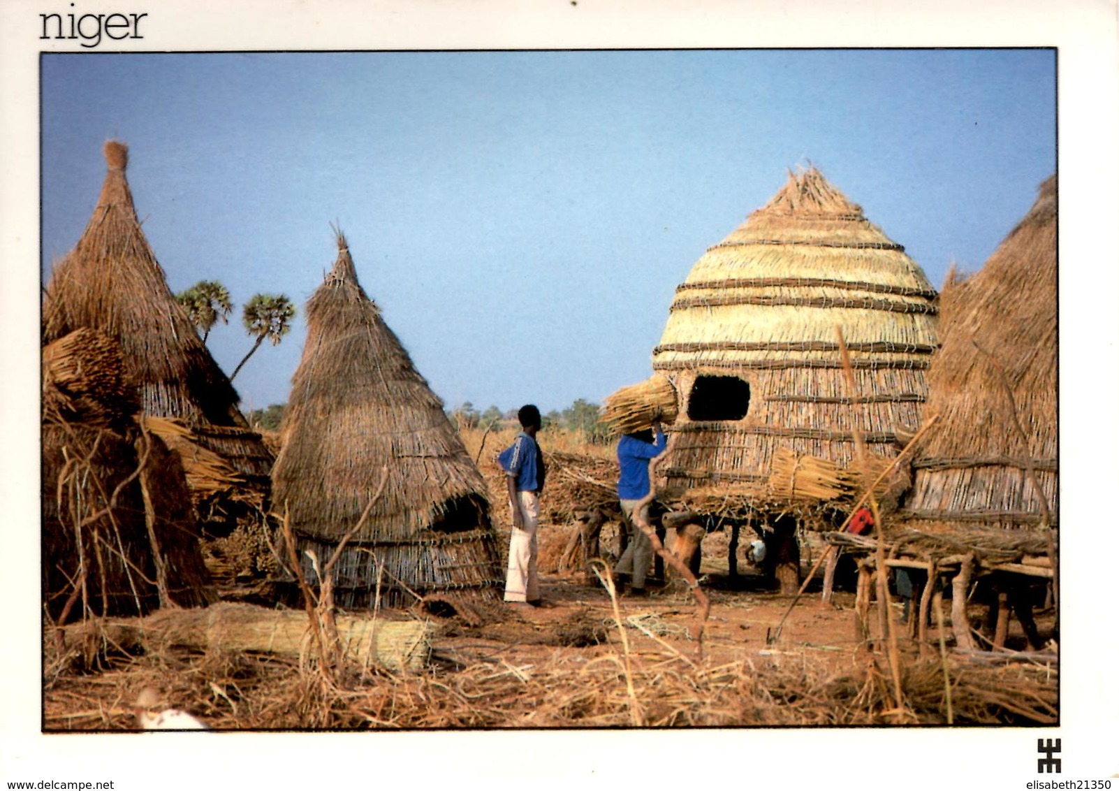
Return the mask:
[[[43,426],[43,592],[55,621],[216,600],[176,454],[151,435]]]

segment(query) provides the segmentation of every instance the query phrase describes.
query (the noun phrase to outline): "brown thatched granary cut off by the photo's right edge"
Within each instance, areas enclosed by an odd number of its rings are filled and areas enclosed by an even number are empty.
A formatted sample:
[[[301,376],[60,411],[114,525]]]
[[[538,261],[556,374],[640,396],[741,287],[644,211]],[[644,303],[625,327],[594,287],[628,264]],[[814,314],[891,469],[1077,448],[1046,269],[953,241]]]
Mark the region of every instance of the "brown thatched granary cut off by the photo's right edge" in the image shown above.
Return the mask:
[[[911,526],[1057,524],[1056,233],[1054,176],[982,270],[944,288],[929,370],[928,411],[940,422],[914,459],[900,514]]]

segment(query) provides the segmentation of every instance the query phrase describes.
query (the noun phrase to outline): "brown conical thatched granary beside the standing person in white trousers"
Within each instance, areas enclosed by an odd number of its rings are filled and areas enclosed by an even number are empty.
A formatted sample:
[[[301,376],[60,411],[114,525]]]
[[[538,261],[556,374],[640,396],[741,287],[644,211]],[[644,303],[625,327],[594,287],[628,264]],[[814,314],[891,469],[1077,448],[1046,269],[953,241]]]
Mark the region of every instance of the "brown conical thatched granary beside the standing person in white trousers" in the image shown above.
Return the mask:
[[[336,565],[335,601],[496,599],[502,575],[486,482],[443,405],[365,294],[344,236],[307,304],[307,343],[284,413],[273,502],[316,578],[384,488]],[[387,470],[387,473],[383,472]],[[378,567],[384,573],[378,574]]]

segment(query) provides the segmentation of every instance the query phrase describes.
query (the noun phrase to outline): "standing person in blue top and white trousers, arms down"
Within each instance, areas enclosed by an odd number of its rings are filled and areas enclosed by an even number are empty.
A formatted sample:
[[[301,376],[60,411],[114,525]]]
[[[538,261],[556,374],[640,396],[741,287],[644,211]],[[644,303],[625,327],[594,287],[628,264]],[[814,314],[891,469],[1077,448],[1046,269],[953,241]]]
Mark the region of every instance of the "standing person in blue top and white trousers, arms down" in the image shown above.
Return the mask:
[[[513,510],[505,601],[539,606],[536,525],[540,517],[540,490],[544,489],[544,454],[536,442],[536,432],[540,430],[540,411],[533,404],[526,404],[517,413],[517,420],[523,431],[497,458],[506,472]]]

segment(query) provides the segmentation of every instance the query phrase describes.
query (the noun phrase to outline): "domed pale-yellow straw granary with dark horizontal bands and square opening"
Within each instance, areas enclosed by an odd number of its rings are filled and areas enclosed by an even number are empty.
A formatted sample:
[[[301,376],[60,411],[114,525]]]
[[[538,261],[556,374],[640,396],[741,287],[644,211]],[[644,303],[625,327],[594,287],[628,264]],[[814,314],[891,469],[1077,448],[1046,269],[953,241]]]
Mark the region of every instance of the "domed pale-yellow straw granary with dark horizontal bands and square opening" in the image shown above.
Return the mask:
[[[904,248],[819,170],[790,173],[676,291],[652,355],[683,402],[662,468],[670,489],[762,484],[779,449],[848,467],[856,430],[872,452],[895,454],[895,429],[920,424],[935,296]],[[745,414],[694,414],[696,383],[726,376],[749,385]]]

